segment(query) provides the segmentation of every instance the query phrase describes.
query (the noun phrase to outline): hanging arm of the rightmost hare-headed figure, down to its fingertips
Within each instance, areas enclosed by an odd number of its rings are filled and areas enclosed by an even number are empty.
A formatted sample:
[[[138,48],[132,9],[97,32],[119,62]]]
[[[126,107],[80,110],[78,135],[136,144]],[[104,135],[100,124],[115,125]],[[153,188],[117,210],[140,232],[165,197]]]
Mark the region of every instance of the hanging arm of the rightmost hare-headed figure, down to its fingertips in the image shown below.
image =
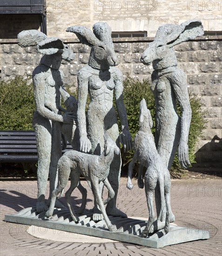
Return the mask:
[[[190,165],[188,156],[188,135],[190,122],[192,117],[192,110],[189,102],[189,94],[187,88],[186,74],[178,69],[172,79],[172,86],[181,109],[181,136],[178,147],[178,158],[182,167],[187,168]]]

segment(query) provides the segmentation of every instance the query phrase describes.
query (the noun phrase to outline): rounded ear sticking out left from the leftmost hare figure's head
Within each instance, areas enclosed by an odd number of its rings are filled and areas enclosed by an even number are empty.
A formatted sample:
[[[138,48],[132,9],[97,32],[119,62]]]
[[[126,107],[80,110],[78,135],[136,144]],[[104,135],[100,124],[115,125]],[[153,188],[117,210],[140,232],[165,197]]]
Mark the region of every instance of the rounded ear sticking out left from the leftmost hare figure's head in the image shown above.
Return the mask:
[[[46,39],[47,36],[42,32],[31,29],[23,30],[18,34],[18,43],[20,47],[37,46],[38,42]]]

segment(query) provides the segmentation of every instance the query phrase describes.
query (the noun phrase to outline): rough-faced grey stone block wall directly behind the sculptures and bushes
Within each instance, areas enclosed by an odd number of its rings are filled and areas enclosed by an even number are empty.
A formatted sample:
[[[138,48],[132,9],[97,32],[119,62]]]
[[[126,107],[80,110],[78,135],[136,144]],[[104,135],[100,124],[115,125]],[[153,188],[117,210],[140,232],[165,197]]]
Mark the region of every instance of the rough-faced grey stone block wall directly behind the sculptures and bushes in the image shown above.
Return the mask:
[[[149,78],[152,66],[140,62],[141,53],[148,46],[151,38],[114,39],[115,51],[119,58],[119,68],[124,76],[127,74]],[[74,90],[77,86],[77,73],[88,62],[90,47],[78,40],[66,43],[75,53],[74,61],[64,61],[61,69],[65,74],[65,84]],[[222,162],[222,36],[201,37],[175,47],[178,66],[188,76],[188,89],[192,95],[201,98],[203,109],[209,111],[206,116],[208,124],[199,141],[196,151],[199,166],[219,167]],[[17,74],[24,77],[31,75],[40,61],[40,54],[34,47],[22,49],[15,40],[1,42],[0,48],[2,79]]]

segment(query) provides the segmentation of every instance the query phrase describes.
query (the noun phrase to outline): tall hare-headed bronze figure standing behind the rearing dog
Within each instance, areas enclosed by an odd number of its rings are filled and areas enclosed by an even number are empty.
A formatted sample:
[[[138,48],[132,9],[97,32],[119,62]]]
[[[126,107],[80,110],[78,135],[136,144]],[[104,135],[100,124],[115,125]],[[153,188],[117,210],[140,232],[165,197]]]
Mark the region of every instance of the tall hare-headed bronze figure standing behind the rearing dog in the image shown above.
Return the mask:
[[[181,25],[165,24],[158,28],[155,39],[141,56],[145,65],[153,63],[151,90],[156,104],[155,144],[162,161],[170,169],[175,152],[183,168],[190,165],[188,158],[188,134],[191,121],[191,108],[188,95],[186,74],[177,67],[173,47],[181,42],[203,35],[202,23],[199,20],[188,20]],[[182,115],[176,111],[179,102]],[[161,216],[160,192],[155,189],[157,215]],[[169,220],[175,216],[169,210]]]

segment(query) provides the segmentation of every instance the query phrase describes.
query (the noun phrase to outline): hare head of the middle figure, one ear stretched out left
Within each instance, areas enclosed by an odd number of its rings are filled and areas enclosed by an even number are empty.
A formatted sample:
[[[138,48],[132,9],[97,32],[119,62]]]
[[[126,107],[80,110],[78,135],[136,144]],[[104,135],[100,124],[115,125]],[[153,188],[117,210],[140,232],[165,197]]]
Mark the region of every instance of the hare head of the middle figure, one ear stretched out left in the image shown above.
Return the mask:
[[[97,69],[109,69],[110,66],[118,65],[111,38],[112,31],[106,22],[95,23],[93,32],[82,26],[68,27],[66,31],[73,32],[82,44],[92,47],[89,66]]]

